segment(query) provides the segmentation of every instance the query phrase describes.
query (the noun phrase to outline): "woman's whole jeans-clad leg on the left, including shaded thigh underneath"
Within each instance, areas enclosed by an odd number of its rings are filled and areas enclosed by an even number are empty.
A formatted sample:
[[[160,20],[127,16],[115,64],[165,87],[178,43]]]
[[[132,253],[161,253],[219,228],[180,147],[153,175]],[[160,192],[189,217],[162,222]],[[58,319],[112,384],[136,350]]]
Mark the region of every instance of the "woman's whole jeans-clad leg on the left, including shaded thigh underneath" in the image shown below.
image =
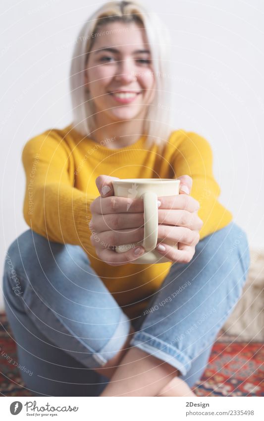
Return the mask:
[[[130,339],[131,323],[82,248],[26,231],[7,251],[3,292],[26,386],[98,396],[108,382],[102,367]]]

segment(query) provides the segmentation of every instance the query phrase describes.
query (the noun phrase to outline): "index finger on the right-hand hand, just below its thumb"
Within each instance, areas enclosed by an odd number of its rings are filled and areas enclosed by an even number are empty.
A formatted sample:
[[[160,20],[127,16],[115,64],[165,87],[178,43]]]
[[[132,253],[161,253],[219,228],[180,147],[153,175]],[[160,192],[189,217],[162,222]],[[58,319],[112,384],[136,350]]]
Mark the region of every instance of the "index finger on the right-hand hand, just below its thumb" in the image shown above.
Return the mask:
[[[197,212],[200,203],[187,194],[175,194],[174,196],[158,196],[160,205],[158,209],[184,209],[189,212]]]

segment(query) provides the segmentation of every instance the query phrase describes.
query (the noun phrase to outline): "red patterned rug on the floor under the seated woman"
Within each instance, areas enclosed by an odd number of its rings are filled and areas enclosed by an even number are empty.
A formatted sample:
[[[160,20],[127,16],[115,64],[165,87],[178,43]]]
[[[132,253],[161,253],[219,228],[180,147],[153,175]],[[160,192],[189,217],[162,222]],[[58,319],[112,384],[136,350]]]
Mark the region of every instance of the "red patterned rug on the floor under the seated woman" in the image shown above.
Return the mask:
[[[0,396],[34,396],[24,387],[15,342],[0,313]],[[238,342],[219,335],[204,375],[193,388],[197,396],[264,396],[264,344]]]

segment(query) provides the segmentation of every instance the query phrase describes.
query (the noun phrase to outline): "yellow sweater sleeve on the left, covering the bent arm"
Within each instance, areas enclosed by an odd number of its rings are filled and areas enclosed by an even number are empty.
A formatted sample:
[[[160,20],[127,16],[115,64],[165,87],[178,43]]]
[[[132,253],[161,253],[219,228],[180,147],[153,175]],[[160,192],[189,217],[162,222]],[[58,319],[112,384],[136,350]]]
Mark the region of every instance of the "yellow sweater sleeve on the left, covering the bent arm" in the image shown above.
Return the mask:
[[[28,226],[50,241],[88,251],[90,204],[96,198],[74,185],[72,157],[62,137],[43,133],[22,151],[26,174],[23,214]]]

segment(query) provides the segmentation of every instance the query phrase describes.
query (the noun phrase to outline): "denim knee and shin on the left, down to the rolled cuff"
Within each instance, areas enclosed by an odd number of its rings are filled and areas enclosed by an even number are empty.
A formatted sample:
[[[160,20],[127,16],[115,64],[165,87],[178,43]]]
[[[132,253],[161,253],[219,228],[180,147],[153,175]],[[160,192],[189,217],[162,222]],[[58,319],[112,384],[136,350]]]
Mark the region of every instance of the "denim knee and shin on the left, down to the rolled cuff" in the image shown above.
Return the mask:
[[[81,247],[28,230],[10,245],[5,263],[6,302],[27,313],[56,346],[90,368],[120,350],[130,320]]]

